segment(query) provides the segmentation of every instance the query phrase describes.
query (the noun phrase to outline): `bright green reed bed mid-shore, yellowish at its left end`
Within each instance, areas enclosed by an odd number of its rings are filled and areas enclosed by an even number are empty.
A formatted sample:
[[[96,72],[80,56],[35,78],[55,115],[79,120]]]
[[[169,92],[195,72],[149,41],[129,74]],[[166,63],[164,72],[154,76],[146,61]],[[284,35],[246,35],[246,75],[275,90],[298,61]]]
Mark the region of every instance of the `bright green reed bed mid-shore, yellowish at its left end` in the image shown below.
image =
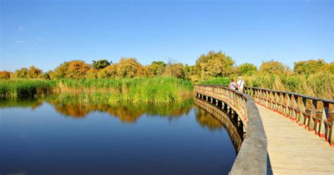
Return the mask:
[[[62,79],[61,91],[108,92],[109,101],[180,101],[192,94],[192,82],[173,77],[132,79]]]

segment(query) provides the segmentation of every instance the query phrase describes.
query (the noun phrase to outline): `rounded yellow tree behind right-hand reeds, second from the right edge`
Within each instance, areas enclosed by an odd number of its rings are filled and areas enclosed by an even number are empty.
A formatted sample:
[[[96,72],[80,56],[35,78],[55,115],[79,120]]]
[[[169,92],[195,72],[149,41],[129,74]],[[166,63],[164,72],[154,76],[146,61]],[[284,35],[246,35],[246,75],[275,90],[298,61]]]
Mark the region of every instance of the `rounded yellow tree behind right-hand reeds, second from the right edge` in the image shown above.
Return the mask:
[[[264,61],[260,66],[261,74],[290,74],[290,68],[275,60]]]

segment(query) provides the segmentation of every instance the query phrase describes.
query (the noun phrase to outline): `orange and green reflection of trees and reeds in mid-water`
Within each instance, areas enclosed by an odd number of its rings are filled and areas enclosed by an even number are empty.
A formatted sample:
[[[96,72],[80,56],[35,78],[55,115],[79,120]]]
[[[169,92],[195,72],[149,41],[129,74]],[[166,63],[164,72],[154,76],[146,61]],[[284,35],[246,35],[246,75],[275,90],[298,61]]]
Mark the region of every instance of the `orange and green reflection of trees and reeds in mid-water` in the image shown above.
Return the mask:
[[[110,94],[71,93],[47,99],[57,112],[63,115],[82,118],[89,112],[107,112],[118,117],[121,122],[136,122],[142,115],[178,117],[192,108],[192,98],[175,103],[110,103]]]

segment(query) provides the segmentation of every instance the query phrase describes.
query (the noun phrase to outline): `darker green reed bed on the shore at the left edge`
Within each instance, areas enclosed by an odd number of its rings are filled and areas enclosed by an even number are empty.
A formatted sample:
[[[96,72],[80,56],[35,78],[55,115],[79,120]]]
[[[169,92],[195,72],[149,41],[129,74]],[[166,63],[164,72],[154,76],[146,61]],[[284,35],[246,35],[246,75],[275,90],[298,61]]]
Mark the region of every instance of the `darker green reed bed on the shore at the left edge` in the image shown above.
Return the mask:
[[[57,86],[55,81],[35,79],[0,80],[0,96],[35,96],[37,93],[49,93]]]

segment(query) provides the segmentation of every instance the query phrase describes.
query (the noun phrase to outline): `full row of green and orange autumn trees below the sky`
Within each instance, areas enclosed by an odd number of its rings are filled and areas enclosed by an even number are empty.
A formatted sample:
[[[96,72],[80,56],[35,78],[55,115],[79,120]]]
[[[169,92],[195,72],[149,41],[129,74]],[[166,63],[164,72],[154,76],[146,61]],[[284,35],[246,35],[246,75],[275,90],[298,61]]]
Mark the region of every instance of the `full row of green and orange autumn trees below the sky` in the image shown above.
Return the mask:
[[[71,60],[58,65],[54,70],[43,72],[30,66],[22,67],[14,72],[1,71],[0,79],[115,79],[133,77],[168,76],[179,79],[199,81],[212,77],[234,77],[254,74],[314,74],[319,70],[334,73],[334,62],[326,63],[322,59],[304,60],[294,63],[293,70],[276,60],[264,61],[260,67],[252,63],[236,66],[235,60],[222,51],[209,51],[202,54],[195,65],[175,63],[173,60],[153,61],[150,65],[142,65],[136,58],[120,58],[118,63],[106,59]]]

